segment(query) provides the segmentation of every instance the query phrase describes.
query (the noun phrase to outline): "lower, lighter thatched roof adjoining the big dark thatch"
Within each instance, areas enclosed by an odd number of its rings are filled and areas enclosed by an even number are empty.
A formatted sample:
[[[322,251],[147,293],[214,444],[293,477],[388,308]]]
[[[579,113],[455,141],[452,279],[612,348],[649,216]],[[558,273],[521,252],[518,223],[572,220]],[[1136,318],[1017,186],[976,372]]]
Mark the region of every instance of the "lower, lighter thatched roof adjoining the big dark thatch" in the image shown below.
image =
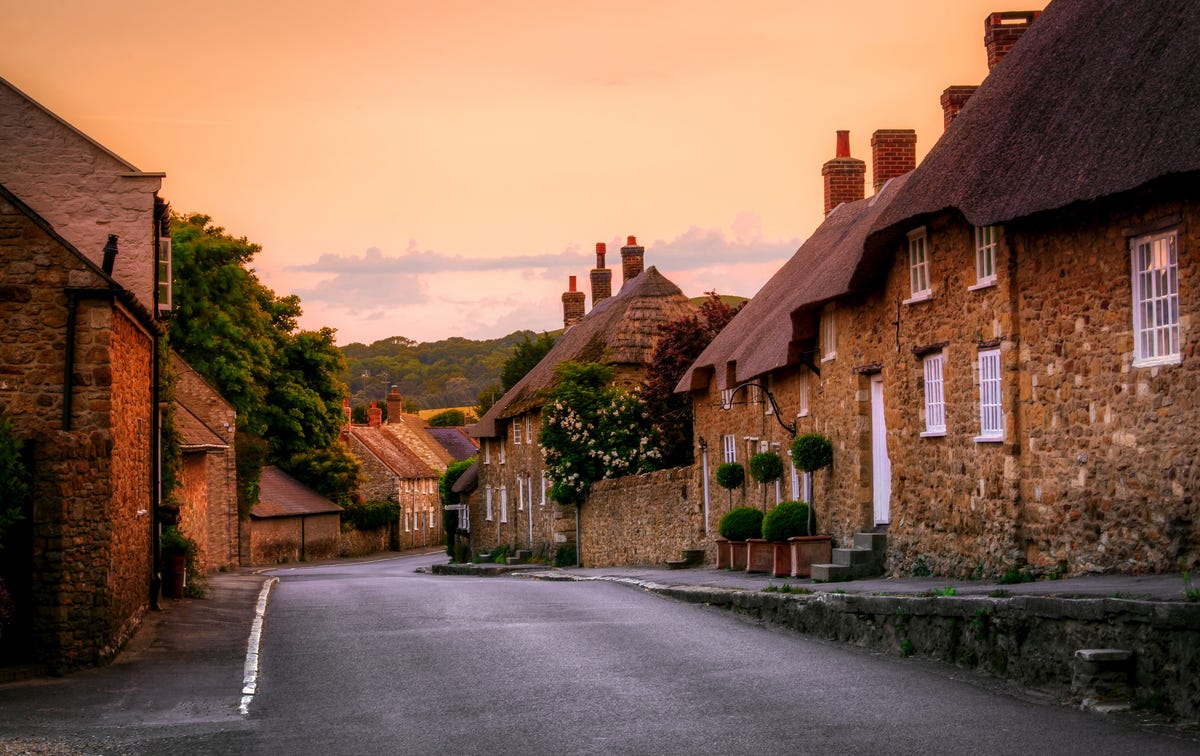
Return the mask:
[[[677,391],[701,389],[714,378],[733,388],[798,361],[803,316],[848,294],[863,256],[863,241],[880,212],[902,190],[906,174],[868,199],[835,208],[816,232],[738,311],[684,373]]]

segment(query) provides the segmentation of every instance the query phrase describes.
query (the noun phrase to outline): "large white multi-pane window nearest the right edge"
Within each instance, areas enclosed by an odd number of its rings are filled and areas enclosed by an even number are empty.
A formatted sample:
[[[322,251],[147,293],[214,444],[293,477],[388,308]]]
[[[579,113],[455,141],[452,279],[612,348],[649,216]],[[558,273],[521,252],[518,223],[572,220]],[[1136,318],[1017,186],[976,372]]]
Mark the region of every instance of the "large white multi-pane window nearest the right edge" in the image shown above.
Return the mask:
[[[1133,364],[1170,365],[1180,353],[1180,260],[1175,229],[1136,236],[1133,247]]]

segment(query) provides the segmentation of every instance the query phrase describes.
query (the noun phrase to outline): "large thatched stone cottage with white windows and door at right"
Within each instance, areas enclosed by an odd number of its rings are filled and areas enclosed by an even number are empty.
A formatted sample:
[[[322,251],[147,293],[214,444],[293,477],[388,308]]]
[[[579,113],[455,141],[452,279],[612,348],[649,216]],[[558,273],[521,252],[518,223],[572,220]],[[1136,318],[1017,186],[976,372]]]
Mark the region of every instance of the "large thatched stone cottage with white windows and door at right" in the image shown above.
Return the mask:
[[[1200,13],[1151,5],[989,16],[922,164],[827,208],[685,376],[697,434],[752,436],[721,392],[770,388],[833,440],[821,529],[886,530],[893,572],[1194,566],[1200,95],[1166,83]]]

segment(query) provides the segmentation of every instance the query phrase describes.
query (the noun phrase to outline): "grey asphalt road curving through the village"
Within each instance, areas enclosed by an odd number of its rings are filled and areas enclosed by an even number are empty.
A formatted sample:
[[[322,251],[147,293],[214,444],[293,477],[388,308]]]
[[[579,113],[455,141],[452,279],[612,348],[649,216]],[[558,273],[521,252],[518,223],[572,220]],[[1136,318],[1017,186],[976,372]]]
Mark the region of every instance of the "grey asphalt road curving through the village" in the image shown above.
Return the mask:
[[[174,676],[170,654],[143,654],[0,686],[0,754],[19,752],[6,728],[97,754],[1196,752],[628,586],[413,571],[432,559],[276,572],[246,716],[228,649]]]

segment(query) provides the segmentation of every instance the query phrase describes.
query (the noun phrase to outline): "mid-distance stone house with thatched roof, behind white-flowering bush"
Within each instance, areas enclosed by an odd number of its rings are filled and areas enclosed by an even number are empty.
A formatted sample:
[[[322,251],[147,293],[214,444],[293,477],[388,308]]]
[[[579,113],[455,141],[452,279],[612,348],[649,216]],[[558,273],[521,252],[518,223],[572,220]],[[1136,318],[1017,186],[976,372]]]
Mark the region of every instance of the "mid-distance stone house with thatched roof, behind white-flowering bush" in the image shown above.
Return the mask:
[[[658,343],[659,326],[695,313],[696,306],[655,268],[644,268],[646,250],[634,236],[620,250],[623,283],[612,294],[606,252],[604,242],[596,245],[596,266],[590,274],[592,310],[584,314],[584,293],[577,290],[571,276],[569,290],[563,294],[563,336],[469,428],[480,443],[479,464],[460,482],[466,492],[474,486],[467,522],[475,553],[515,546],[552,557],[559,550],[576,547],[578,527],[580,557],[588,564],[619,560],[608,551],[620,541],[617,533],[600,526],[593,536],[589,529],[604,517],[625,521],[617,510],[632,508],[631,500],[617,497],[601,504],[594,490],[577,522],[575,506],[562,506],[547,497],[550,485],[539,444],[544,390],[553,384],[554,368],[568,360],[606,360],[616,368],[614,383],[637,386]],[[665,535],[674,538],[667,532]]]

